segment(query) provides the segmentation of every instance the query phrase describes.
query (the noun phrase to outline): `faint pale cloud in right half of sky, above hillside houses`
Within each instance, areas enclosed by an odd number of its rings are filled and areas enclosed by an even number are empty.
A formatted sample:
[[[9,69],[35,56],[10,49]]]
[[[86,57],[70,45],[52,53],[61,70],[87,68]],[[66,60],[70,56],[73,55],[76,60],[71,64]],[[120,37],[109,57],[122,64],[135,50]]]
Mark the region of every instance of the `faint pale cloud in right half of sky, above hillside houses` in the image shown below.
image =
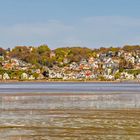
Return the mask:
[[[83,28],[84,32],[82,31],[81,34],[85,33],[89,42],[93,40],[93,45],[109,46],[140,43],[139,40],[135,40],[140,34],[140,19],[101,16],[85,18],[82,23],[84,25],[79,28]]]

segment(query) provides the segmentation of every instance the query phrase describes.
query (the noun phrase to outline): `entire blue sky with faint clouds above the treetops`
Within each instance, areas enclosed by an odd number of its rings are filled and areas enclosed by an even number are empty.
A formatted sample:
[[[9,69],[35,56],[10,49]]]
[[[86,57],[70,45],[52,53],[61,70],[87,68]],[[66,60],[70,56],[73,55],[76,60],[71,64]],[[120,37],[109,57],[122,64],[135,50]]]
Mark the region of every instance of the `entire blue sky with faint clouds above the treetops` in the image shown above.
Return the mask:
[[[140,44],[140,0],[0,0],[0,47]]]

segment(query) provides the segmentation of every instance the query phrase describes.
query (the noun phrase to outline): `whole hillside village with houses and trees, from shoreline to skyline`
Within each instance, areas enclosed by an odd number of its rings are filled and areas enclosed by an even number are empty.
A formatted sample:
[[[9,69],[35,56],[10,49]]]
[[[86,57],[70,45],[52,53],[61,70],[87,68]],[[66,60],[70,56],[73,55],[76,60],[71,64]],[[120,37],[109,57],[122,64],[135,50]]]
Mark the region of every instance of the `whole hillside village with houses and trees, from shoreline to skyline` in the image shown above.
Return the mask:
[[[140,46],[0,48],[0,80],[140,81]]]

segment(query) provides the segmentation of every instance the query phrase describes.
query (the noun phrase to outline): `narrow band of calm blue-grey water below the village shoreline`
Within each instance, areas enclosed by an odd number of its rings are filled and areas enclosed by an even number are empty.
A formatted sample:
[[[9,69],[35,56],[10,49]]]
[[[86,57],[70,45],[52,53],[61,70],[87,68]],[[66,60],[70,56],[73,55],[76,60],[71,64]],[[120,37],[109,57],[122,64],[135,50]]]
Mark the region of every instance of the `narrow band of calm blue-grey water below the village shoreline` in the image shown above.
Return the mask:
[[[139,83],[1,83],[0,93],[140,92]]]

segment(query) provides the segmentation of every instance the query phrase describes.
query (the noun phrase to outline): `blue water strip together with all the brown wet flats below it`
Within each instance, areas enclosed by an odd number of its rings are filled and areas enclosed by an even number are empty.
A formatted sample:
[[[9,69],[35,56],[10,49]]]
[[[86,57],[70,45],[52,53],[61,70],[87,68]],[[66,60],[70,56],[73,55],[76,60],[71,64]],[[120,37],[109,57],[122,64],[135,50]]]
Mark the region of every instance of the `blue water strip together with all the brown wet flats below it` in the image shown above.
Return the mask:
[[[139,140],[139,83],[0,83],[0,140]]]

